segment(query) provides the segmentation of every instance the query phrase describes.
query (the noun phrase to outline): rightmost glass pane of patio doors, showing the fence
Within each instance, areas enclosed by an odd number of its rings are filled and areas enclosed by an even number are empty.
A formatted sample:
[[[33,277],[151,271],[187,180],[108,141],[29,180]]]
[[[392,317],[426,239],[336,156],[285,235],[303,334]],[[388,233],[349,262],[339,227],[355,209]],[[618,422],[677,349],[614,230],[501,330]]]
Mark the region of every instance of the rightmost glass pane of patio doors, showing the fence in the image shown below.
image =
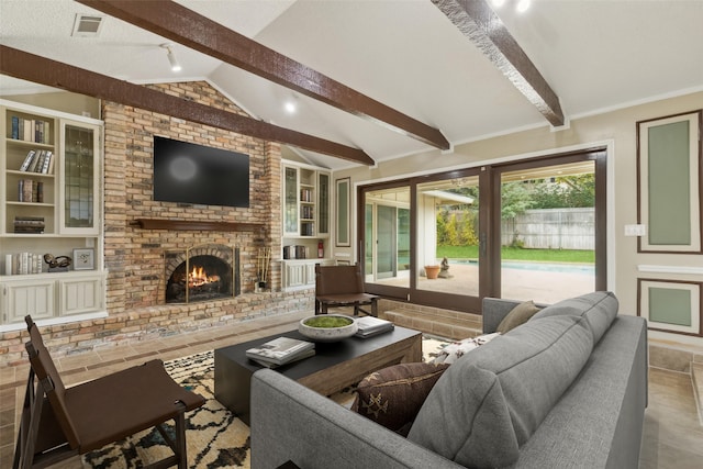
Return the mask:
[[[592,160],[504,172],[501,297],[544,303],[595,289]]]

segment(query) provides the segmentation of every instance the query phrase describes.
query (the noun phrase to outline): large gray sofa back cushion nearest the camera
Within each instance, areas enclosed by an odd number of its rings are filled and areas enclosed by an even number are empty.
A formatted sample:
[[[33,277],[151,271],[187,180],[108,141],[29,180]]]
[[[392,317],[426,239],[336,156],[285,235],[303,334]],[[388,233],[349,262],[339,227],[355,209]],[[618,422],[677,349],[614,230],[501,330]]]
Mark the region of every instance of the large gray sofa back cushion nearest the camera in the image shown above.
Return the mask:
[[[528,321],[451,365],[425,400],[409,439],[467,467],[514,464],[592,346],[582,317]]]

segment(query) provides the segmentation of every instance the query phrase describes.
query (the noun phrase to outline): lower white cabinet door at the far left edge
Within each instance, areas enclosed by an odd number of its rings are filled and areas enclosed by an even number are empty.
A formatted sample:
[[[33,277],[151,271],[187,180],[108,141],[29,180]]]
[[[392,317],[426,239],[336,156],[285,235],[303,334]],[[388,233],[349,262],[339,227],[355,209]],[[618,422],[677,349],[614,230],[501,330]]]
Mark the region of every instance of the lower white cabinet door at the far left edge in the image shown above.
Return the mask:
[[[54,280],[3,281],[3,322],[20,322],[27,314],[33,320],[53,317],[55,312]]]

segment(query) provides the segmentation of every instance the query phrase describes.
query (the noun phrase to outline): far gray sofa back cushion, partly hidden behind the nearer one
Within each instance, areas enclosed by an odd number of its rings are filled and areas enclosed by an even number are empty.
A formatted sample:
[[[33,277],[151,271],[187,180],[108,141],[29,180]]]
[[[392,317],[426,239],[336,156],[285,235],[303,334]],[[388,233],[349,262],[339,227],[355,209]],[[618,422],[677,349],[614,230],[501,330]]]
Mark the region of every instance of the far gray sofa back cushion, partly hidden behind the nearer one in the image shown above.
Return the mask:
[[[617,315],[617,308],[618,302],[615,294],[610,291],[595,291],[547,306],[532,319],[563,314],[582,316],[588,321],[589,328],[593,334],[593,344],[598,344]]]

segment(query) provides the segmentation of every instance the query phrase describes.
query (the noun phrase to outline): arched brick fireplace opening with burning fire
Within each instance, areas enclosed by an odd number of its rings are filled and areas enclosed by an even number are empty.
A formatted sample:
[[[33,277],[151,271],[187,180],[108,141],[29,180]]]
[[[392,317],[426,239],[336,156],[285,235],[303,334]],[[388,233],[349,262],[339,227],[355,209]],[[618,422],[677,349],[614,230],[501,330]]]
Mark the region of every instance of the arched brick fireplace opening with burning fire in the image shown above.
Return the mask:
[[[201,245],[166,253],[166,303],[232,298],[239,291],[239,249]]]

